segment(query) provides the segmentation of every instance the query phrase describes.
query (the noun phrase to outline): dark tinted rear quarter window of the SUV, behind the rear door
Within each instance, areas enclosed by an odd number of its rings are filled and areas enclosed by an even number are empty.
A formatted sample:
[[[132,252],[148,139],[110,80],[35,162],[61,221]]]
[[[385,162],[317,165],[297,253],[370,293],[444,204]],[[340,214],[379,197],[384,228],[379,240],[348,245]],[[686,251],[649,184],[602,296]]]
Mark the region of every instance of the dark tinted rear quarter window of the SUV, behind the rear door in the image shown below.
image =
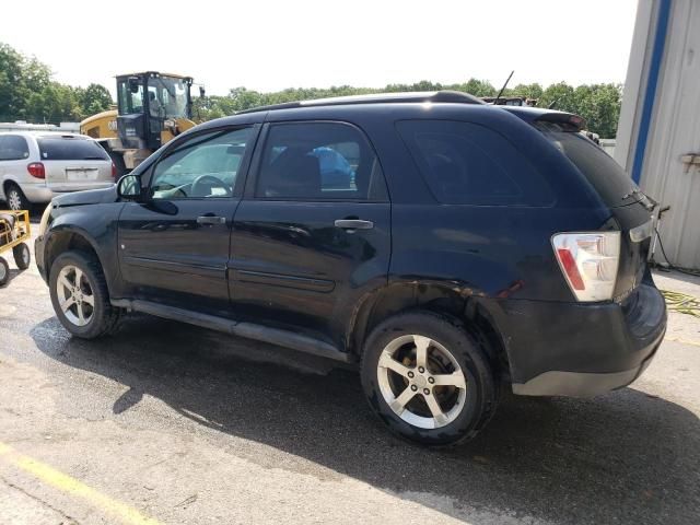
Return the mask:
[[[404,142],[438,201],[475,206],[547,206],[542,177],[500,133],[454,120],[402,120]]]

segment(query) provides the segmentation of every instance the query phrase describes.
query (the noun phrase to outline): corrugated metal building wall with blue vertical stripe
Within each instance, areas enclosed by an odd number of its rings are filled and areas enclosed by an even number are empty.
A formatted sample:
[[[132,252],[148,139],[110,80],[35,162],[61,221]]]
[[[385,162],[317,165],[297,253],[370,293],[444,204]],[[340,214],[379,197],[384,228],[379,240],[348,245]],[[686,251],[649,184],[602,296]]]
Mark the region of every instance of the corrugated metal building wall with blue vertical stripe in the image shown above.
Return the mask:
[[[670,262],[700,268],[700,0],[639,1],[615,159],[670,206]]]

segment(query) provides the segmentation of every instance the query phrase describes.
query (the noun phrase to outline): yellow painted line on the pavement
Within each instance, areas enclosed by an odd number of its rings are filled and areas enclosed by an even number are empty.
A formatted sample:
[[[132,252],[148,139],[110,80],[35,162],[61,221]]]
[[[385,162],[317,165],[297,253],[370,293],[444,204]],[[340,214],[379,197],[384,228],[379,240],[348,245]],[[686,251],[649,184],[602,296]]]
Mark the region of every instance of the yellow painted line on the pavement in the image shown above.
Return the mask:
[[[40,481],[44,481],[45,483],[68,494],[82,498],[91,505],[119,517],[124,523],[130,525],[160,525],[158,521],[152,517],[144,516],[132,506],[109,498],[92,487],[88,487],[82,481],[56,470],[54,467],[24,454],[20,454],[10,445],[5,445],[2,442],[0,442],[0,457],[15,467],[31,474]]]

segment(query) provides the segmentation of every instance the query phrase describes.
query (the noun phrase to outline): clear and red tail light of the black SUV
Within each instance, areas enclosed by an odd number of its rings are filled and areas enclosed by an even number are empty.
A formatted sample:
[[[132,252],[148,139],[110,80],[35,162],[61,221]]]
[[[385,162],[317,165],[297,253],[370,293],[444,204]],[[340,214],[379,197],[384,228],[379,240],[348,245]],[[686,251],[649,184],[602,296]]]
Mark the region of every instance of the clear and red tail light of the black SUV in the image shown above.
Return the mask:
[[[578,301],[609,301],[620,262],[620,232],[558,233],[551,244]]]

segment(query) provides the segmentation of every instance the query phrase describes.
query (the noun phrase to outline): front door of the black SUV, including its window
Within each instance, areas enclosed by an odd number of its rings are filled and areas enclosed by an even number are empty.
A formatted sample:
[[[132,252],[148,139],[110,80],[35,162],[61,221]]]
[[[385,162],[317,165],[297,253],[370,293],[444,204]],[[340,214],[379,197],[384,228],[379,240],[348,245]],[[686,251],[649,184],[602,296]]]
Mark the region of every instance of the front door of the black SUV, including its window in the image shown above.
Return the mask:
[[[130,296],[228,314],[231,225],[256,132],[198,133],[158,161],[149,200],[127,203],[119,217],[119,265]]]

